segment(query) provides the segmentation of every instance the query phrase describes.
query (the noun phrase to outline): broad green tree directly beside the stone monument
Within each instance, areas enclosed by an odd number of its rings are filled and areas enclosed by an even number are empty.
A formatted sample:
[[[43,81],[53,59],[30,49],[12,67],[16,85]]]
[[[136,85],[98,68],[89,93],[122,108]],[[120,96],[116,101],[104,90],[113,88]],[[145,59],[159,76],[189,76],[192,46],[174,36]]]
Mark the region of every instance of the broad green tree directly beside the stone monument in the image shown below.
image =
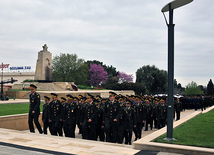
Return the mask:
[[[58,82],[75,82],[86,84],[89,74],[84,60],[78,59],[76,54],[62,54],[55,56],[52,62],[53,79]]]

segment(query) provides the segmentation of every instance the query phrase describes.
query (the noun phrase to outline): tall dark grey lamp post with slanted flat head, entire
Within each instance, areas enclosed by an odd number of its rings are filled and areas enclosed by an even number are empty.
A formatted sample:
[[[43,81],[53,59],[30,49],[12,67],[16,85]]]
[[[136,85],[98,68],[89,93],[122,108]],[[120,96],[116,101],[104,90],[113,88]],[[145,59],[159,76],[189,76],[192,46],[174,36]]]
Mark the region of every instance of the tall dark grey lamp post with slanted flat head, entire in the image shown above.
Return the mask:
[[[173,140],[173,111],[174,111],[174,27],[173,24],[173,10],[184,6],[193,0],[174,0],[166,4],[161,12],[169,11],[169,23],[166,24],[168,27],[168,107],[167,107],[167,138],[166,140]]]

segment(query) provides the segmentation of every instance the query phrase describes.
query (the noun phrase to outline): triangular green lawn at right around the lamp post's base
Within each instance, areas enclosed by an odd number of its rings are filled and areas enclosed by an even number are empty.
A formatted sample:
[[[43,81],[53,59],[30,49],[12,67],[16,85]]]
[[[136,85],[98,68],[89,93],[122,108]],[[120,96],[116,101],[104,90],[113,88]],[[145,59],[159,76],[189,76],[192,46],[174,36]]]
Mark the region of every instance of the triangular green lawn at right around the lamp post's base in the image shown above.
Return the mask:
[[[200,114],[173,130],[175,141],[165,141],[166,134],[155,142],[214,148],[214,110]]]

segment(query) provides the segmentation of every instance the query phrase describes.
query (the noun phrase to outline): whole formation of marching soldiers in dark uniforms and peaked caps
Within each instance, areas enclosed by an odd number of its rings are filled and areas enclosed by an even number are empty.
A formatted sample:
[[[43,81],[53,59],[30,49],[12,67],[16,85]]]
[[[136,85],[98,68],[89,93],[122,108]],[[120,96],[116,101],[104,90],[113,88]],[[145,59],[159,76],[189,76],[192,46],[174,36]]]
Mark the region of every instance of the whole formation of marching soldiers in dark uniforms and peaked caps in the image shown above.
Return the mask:
[[[31,85],[32,89],[36,86]],[[83,139],[100,140],[112,143],[132,144],[134,140],[142,137],[142,131],[160,129],[167,124],[167,97],[154,97],[131,95],[123,96],[115,92],[109,92],[109,98],[93,96],[87,93],[86,97],[79,95],[74,97],[67,94],[58,98],[55,93],[51,97],[44,96],[43,104],[43,131],[38,123],[40,96],[33,91],[30,95],[29,128],[33,128],[33,120],[39,133],[75,138],[75,130]],[[174,99],[174,117],[180,119],[180,112],[190,106],[189,98]],[[209,98],[207,104],[213,104],[213,98]],[[184,102],[185,101],[185,102]],[[202,100],[205,104],[205,98]],[[192,104],[192,101],[191,101]],[[203,103],[197,107],[203,107]],[[190,107],[188,107],[190,108]],[[34,111],[34,114],[32,113]]]

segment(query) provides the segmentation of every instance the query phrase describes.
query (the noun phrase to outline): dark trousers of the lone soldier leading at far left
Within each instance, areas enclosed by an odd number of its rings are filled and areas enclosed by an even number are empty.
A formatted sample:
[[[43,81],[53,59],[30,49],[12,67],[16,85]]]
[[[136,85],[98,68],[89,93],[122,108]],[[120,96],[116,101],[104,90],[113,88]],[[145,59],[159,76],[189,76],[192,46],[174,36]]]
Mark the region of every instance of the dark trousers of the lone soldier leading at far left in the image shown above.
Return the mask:
[[[30,129],[30,132],[35,132],[34,130],[34,126],[33,126],[33,122],[35,123],[38,131],[40,134],[42,134],[42,128],[41,128],[41,125],[38,121],[39,119],[39,115],[38,114],[28,114],[28,125],[29,125],[29,129]]]

